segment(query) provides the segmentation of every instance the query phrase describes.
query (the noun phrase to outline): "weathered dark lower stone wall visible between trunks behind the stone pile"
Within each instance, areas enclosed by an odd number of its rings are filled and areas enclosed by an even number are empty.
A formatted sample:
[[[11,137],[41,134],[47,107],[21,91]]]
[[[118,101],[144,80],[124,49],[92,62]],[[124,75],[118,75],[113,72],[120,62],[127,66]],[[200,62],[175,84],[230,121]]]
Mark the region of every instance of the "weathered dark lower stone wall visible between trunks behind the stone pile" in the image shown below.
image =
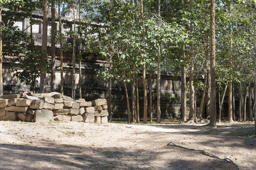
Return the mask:
[[[71,96],[71,71],[72,68],[67,65],[64,67],[64,94]],[[78,96],[78,82],[79,82],[79,69],[76,71],[76,96]],[[10,63],[5,62],[3,66],[3,83],[4,94],[19,94],[20,92],[29,92],[33,90],[29,85],[20,83],[17,78],[13,77],[12,67]],[[108,83],[100,78],[96,77],[95,71],[92,68],[88,68],[83,65],[82,69],[82,93],[83,98],[86,101],[93,101],[99,98],[108,99]],[[40,79],[38,78],[38,82]],[[140,93],[140,113],[143,115],[143,84],[142,81],[139,84]],[[50,92],[51,75],[47,74],[46,89]],[[60,92],[60,70],[56,71],[56,88]],[[128,84],[129,97],[131,102],[131,85]],[[39,84],[36,87],[36,91],[39,90]],[[127,106],[125,99],[124,84],[114,84],[112,87],[113,95],[113,117],[124,118],[127,117]],[[156,115],[156,80],[153,84],[153,111]],[[179,78],[163,74],[161,79],[161,114],[163,118],[179,118],[180,117],[180,81]],[[149,104],[149,97],[148,97]]]

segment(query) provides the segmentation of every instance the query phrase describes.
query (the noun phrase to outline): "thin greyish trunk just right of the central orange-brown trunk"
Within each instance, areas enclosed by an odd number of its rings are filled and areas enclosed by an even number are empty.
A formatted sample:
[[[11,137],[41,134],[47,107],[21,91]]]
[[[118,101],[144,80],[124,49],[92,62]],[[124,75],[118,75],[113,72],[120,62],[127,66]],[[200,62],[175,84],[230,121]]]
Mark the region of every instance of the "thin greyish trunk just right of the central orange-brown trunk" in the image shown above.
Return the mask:
[[[161,17],[161,0],[158,0],[158,17]],[[161,46],[158,46],[158,55],[157,55],[157,106],[156,106],[156,112],[157,112],[157,118],[156,122],[161,122]]]

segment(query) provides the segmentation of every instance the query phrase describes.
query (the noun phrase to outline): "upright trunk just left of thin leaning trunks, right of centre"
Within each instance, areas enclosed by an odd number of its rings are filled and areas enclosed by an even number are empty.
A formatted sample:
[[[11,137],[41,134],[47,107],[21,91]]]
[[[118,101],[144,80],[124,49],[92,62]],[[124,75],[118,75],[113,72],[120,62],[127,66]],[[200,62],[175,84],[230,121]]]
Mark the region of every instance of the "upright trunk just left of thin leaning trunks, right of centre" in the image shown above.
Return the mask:
[[[190,12],[193,13],[193,3],[194,0],[189,1]],[[191,23],[193,21],[193,17],[191,17]],[[190,37],[192,39],[194,28],[193,25],[190,25]],[[194,89],[194,43],[191,41],[190,43],[190,63],[189,63],[189,120],[193,118],[195,115],[195,89]]]

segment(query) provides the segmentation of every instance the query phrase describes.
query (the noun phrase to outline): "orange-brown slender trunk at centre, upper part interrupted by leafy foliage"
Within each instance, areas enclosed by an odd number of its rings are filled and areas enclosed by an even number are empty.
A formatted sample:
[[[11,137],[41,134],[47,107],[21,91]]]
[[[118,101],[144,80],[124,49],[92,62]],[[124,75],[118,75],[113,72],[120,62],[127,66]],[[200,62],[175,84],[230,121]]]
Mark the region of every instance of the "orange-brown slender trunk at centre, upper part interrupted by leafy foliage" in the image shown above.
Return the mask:
[[[142,22],[144,20],[144,16],[143,16],[143,0],[140,0],[140,14],[141,14],[141,19]],[[143,22],[143,28],[145,27],[144,22]],[[145,31],[145,29],[144,29]],[[143,35],[143,41],[144,40],[144,35]],[[142,66],[142,79],[143,79],[143,96],[144,96],[144,108],[143,108],[143,123],[147,124],[147,119],[148,119],[148,115],[147,115],[147,80],[146,80],[146,65],[143,64]]]

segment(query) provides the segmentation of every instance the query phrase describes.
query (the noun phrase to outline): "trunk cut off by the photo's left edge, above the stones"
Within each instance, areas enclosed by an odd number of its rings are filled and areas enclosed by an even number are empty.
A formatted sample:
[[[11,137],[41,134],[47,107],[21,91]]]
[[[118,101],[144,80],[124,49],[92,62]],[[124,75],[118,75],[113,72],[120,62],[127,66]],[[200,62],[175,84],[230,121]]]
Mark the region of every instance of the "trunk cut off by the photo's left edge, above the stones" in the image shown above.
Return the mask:
[[[3,96],[2,4],[0,3],[0,96]]]

